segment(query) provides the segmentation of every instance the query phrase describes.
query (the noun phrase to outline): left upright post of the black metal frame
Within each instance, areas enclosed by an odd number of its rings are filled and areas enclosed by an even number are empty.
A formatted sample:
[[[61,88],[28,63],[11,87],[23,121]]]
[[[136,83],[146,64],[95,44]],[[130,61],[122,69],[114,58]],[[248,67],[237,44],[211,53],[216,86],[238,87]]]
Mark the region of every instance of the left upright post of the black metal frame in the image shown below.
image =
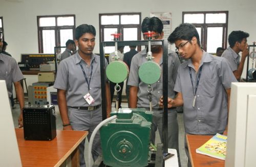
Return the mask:
[[[100,42],[100,81],[101,81],[101,107],[102,120],[106,119],[106,92],[105,92],[105,54],[103,44]]]

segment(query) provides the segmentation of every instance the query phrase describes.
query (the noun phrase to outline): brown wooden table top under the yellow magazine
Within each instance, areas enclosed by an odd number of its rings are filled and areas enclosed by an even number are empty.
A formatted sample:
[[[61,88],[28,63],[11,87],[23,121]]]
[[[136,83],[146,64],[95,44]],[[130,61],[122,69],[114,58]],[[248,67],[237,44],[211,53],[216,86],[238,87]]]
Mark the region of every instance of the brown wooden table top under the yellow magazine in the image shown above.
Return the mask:
[[[224,160],[196,153],[196,149],[205,144],[205,142],[208,141],[211,137],[212,136],[207,135],[186,135],[187,146],[192,166],[225,166]]]

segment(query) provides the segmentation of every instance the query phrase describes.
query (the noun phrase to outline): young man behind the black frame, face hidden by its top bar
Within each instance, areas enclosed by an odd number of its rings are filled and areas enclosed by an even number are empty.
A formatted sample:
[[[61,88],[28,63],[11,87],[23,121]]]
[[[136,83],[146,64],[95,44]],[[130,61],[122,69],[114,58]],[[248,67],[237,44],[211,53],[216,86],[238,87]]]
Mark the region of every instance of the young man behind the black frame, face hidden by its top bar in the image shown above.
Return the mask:
[[[163,39],[163,24],[157,17],[144,18],[142,21],[142,33],[154,32],[152,39]],[[160,45],[152,46],[152,56],[154,61],[163,66],[163,49]],[[148,99],[147,84],[143,83],[138,76],[138,70],[141,64],[147,61],[147,49],[136,54],[131,62],[128,85],[130,85],[129,103],[131,108],[150,108],[150,100]],[[177,69],[180,65],[178,55],[175,52],[168,52],[168,96],[175,97],[174,85],[177,76]],[[155,132],[158,129],[160,138],[162,139],[163,132],[163,110],[159,107],[158,101],[163,94],[163,76],[154,84],[152,92],[152,108],[153,108],[153,126],[151,140],[155,142]],[[177,122],[177,112],[175,108],[168,110],[168,148],[176,149],[179,157],[179,128]],[[179,160],[180,163],[180,160]]]

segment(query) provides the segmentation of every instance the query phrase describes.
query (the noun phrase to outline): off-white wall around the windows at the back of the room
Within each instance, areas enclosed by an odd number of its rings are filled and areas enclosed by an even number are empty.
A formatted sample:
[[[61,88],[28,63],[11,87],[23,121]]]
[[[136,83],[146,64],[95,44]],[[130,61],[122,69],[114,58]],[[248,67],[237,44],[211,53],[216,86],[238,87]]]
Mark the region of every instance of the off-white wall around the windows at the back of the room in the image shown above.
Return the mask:
[[[38,53],[36,16],[75,14],[76,26],[94,25],[97,31],[94,52],[99,53],[99,13],[141,12],[143,19],[151,12],[171,12],[174,30],[182,22],[183,11],[229,11],[228,34],[233,30],[248,32],[248,43],[252,44],[256,41],[255,7],[255,0],[0,0],[0,16],[4,20],[7,52],[19,61],[22,53]]]

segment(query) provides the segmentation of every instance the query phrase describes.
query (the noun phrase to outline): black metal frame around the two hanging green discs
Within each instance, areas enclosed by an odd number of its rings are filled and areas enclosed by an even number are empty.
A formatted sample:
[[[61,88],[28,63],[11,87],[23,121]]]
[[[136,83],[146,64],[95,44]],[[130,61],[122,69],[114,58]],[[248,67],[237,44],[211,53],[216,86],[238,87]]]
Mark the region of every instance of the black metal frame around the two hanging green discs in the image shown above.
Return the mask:
[[[105,99],[105,46],[115,46],[116,41],[100,42],[100,77],[101,77],[101,106],[102,120],[106,119],[106,99]],[[148,45],[148,40],[143,41],[117,41],[118,46]],[[162,45],[163,47],[163,154],[168,154],[168,42],[167,40],[152,40],[152,45]]]

